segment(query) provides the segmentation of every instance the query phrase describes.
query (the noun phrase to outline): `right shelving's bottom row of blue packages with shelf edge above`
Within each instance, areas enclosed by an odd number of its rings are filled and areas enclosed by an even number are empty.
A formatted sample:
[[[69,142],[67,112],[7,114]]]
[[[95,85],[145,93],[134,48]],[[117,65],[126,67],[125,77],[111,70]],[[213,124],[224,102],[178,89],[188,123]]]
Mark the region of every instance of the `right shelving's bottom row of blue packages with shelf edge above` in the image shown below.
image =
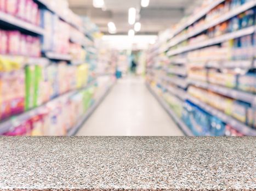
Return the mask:
[[[246,124],[227,116],[223,112],[212,108],[197,98],[187,96],[185,100],[179,99],[161,87],[147,88],[158,102],[178,124],[185,135],[194,136],[255,136],[256,130]]]

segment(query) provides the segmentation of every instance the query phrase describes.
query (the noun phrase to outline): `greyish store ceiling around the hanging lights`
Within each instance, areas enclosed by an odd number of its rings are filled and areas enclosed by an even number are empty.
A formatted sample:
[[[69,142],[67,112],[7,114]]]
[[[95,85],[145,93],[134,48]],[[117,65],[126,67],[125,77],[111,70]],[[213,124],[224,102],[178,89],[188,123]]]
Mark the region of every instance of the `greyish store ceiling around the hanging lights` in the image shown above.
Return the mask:
[[[141,31],[138,34],[157,34],[191,14],[202,0],[150,0],[147,8],[140,8],[140,0],[105,0],[106,10],[93,7],[93,0],[69,0],[70,8],[78,15],[88,16],[108,34],[107,23],[112,21],[117,34],[127,34],[133,26],[128,24],[128,9],[140,10]]]

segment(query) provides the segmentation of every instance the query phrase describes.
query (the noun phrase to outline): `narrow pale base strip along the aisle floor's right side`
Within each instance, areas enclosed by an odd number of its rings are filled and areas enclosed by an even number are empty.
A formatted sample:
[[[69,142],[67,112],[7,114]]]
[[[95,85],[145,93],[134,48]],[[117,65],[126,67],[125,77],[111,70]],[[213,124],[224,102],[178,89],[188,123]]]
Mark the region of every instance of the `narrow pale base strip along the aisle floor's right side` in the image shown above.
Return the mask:
[[[163,106],[163,108],[168,112],[168,114],[173,118],[175,123],[178,124],[178,126],[183,130],[183,132],[187,136],[194,136],[194,134],[191,132],[191,130],[186,126],[186,124],[174,113],[172,109],[164,102],[164,100],[158,96],[158,94],[153,91],[153,89],[150,87],[149,83],[146,83],[147,88],[149,91],[153,94],[153,96],[158,100],[158,102]]]

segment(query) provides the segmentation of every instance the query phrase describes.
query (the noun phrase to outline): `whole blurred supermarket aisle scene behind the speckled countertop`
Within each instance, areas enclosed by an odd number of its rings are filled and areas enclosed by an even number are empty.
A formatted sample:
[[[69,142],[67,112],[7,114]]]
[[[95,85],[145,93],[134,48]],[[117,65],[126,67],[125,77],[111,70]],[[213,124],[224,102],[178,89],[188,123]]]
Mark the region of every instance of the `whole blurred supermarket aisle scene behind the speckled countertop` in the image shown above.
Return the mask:
[[[0,0],[0,135],[255,136],[256,0]]]

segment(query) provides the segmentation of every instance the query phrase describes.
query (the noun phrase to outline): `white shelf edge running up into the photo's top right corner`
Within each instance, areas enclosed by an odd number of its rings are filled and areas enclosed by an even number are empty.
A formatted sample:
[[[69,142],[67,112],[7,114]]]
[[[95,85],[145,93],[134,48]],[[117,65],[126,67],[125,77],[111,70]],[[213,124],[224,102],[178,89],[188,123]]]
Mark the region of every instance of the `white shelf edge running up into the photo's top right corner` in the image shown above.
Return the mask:
[[[236,16],[236,15],[238,15],[240,13],[243,13],[244,11],[246,11],[248,9],[251,9],[251,8],[255,7],[255,5],[256,5],[256,1],[255,0],[251,1],[251,2],[248,2],[246,4],[243,4],[240,8],[234,9],[234,10],[230,11],[229,13],[226,13],[223,17],[220,17],[219,19],[217,19],[217,20],[215,20],[215,21],[213,21],[211,23],[207,23],[204,26],[201,26],[200,30],[191,32],[189,34],[185,34],[185,35],[181,36],[179,39],[175,40],[174,42],[170,42],[164,50],[167,51],[168,49],[170,49],[170,47],[173,47],[173,46],[181,43],[182,41],[184,41],[186,39],[194,37],[195,35],[200,34],[201,32],[203,32],[203,31],[205,31],[205,30],[207,30],[207,29],[209,29],[211,27],[214,27],[214,26],[218,25],[221,22],[229,20],[232,17],[234,17],[234,16]]]

